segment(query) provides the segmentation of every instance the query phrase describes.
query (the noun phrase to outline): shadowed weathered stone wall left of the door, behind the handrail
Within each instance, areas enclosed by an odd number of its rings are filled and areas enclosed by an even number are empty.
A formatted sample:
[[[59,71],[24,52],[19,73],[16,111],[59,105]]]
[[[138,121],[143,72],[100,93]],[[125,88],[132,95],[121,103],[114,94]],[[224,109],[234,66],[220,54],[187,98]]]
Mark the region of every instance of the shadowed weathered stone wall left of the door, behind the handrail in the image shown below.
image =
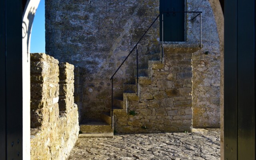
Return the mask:
[[[83,117],[99,118],[110,110],[110,77],[158,15],[159,1],[46,0],[45,7],[46,53],[85,68]],[[158,31],[159,22],[140,44],[140,55],[156,52]],[[131,55],[115,85],[130,78],[133,64]]]

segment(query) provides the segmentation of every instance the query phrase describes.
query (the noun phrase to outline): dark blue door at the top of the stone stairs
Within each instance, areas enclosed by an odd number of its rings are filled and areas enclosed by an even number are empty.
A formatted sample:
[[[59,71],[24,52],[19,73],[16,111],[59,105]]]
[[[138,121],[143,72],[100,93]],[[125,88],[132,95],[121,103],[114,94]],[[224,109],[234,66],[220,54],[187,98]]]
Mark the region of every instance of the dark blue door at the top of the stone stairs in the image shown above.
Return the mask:
[[[184,41],[184,0],[160,0],[160,13],[164,12],[164,41]],[[162,40],[162,15],[160,16],[160,40]]]

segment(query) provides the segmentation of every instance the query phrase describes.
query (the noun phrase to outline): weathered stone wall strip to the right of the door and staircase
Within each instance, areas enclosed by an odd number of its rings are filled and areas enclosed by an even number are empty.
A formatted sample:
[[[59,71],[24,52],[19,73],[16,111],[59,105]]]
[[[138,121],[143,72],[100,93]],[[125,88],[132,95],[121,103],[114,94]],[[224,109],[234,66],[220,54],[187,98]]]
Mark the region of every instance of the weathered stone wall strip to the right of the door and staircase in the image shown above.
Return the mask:
[[[203,48],[193,53],[193,127],[220,127],[220,40],[208,0],[187,0],[188,11],[202,11]],[[199,41],[199,20],[188,18],[188,41]]]

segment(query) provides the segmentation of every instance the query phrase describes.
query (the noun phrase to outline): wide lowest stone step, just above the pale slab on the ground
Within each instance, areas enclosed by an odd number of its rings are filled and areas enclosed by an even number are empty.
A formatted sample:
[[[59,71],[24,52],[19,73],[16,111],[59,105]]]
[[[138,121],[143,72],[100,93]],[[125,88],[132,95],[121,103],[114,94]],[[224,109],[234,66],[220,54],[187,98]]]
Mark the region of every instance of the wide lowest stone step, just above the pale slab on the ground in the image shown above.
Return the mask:
[[[80,123],[82,133],[113,133],[111,125],[103,120],[82,120]]]

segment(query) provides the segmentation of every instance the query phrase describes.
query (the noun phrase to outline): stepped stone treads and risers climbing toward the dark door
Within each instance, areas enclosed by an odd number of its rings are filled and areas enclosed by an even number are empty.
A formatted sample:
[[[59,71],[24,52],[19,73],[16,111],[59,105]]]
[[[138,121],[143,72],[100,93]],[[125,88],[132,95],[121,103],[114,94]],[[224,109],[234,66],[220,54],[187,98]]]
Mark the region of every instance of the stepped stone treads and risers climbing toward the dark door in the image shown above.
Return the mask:
[[[152,82],[152,69],[162,69],[164,64],[160,61],[160,53],[150,53],[144,56],[142,63],[138,69],[138,84],[146,85]],[[140,100],[140,92],[137,95],[137,71],[134,71],[134,81],[124,83],[122,86],[122,95],[114,96],[113,98],[113,113],[114,115],[127,114],[128,100]],[[118,122],[116,122],[118,123]],[[114,122],[113,122],[114,124]],[[111,113],[102,112],[100,120],[84,119],[80,123],[80,135],[83,138],[106,137],[114,136],[114,126],[111,126]]]

